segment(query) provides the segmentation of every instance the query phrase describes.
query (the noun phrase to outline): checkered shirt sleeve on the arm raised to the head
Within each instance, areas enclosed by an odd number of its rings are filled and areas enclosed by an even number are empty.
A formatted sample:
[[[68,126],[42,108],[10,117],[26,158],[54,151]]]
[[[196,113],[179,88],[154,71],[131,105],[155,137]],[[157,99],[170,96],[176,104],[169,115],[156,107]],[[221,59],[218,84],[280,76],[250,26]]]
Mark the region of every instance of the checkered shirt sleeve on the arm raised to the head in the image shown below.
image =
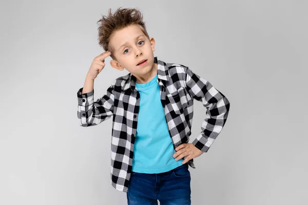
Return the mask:
[[[80,126],[89,127],[99,125],[102,121],[113,115],[114,87],[111,85],[107,89],[107,94],[94,102],[94,89],[88,93],[82,93],[83,88],[77,92],[78,111]]]

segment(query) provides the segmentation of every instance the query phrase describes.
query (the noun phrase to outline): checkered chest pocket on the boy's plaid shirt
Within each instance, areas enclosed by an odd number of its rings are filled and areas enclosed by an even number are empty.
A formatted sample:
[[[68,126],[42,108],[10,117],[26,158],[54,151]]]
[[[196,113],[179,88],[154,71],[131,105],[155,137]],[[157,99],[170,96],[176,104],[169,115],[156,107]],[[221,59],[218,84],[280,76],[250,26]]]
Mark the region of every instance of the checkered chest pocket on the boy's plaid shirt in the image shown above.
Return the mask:
[[[184,113],[185,108],[189,105],[187,91],[185,88],[179,88],[175,93],[167,94],[167,97],[170,101],[170,108],[176,114]]]

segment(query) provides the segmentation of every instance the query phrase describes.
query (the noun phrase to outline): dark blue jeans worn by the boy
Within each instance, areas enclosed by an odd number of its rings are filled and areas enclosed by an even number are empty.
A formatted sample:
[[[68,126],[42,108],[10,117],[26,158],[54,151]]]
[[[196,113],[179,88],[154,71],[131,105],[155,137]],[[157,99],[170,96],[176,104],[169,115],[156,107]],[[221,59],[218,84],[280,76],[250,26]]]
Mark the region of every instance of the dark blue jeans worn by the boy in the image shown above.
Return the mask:
[[[128,205],[190,205],[190,172],[184,163],[158,174],[132,172],[126,193]]]

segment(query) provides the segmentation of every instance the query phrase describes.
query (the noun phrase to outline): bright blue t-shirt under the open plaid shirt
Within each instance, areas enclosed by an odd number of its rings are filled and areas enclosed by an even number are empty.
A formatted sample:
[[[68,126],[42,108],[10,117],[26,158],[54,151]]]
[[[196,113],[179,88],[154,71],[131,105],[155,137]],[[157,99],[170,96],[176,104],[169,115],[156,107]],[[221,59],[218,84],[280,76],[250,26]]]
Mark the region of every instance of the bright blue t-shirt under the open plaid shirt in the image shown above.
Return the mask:
[[[182,165],[184,159],[176,160],[176,153],[160,98],[157,75],[148,83],[137,84],[140,107],[136,140],[133,148],[132,171],[139,173],[162,173]]]

